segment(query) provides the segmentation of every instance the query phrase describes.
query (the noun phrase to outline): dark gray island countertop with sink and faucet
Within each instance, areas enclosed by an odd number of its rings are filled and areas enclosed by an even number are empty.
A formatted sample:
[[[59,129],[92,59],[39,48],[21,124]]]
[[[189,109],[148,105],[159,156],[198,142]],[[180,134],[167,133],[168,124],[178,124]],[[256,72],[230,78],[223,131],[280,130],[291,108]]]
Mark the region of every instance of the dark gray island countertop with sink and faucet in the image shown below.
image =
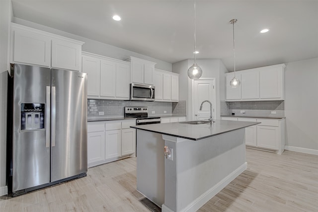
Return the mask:
[[[201,139],[206,139],[212,136],[217,136],[223,133],[239,130],[257,124],[260,124],[260,122],[215,120],[213,125],[210,125],[209,123],[191,125],[182,122],[173,122],[151,125],[138,125],[131,126],[131,128],[198,141]]]

